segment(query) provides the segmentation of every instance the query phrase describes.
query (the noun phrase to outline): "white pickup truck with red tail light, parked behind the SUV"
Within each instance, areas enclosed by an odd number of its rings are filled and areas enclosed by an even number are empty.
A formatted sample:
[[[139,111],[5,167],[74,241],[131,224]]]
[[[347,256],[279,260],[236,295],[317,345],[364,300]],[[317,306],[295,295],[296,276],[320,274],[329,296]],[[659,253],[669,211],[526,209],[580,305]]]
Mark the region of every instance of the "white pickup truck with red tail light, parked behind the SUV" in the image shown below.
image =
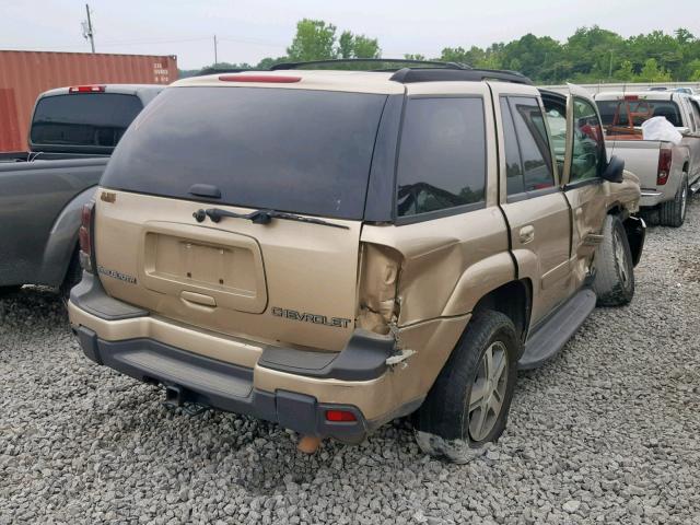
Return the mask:
[[[598,93],[595,102],[608,153],[640,179],[640,205],[658,209],[661,224],[680,226],[688,195],[700,190],[700,102],[672,91]],[[641,125],[660,116],[682,135],[681,143],[643,140]]]

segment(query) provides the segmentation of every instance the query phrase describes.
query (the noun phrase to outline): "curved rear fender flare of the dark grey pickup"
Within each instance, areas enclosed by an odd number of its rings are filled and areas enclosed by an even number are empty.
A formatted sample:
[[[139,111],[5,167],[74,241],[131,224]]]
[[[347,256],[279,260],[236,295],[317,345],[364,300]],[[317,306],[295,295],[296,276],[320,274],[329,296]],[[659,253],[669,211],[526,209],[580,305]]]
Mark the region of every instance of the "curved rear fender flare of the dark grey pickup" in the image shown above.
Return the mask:
[[[38,282],[49,287],[59,287],[63,282],[70,259],[78,247],[81,210],[94,198],[95,191],[96,186],[91,186],[78,194],[54,221],[44,248]]]

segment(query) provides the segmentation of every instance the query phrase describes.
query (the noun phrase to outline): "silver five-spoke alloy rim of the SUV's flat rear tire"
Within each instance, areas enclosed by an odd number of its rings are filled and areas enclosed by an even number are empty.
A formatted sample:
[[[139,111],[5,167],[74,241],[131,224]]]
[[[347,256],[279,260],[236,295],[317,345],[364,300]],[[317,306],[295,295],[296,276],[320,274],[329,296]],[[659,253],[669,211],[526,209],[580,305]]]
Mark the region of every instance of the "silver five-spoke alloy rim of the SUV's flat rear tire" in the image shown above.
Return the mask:
[[[508,387],[508,352],[505,345],[495,341],[487,348],[479,362],[477,376],[469,395],[469,435],[482,441],[499,419]]]

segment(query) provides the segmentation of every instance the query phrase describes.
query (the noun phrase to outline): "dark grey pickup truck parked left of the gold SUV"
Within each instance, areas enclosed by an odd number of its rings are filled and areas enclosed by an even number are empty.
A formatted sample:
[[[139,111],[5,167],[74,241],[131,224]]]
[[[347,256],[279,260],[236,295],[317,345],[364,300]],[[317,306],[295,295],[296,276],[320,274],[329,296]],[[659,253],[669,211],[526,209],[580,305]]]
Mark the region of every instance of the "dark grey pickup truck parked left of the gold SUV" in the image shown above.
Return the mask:
[[[78,230],[112,151],[162,85],[59,88],[39,95],[30,151],[0,153],[0,296],[22,284],[68,292]]]

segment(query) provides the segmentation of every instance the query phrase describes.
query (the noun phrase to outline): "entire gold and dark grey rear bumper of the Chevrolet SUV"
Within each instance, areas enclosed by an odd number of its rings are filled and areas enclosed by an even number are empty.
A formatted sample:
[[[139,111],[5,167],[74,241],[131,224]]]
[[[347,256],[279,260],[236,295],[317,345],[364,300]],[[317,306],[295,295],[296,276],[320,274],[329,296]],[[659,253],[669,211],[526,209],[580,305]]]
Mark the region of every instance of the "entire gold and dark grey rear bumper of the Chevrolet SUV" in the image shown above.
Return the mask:
[[[108,296],[89,273],[71,291],[68,312],[83,352],[96,363],[175,387],[185,401],[304,434],[357,442],[422,401],[396,395],[396,373],[385,364],[390,337],[355,330],[341,352],[270,347],[150,315]],[[329,409],[349,410],[357,421],[326,421]]]

